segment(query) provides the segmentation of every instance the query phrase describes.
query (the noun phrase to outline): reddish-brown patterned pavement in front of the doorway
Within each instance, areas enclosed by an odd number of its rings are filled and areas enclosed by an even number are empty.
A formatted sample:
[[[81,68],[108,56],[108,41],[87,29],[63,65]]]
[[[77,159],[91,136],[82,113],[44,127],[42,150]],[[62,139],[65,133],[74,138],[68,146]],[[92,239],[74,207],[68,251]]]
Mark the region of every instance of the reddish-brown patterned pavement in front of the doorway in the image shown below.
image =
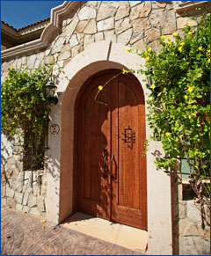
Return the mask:
[[[92,238],[55,223],[41,223],[40,217],[32,214],[2,208],[1,255],[142,255],[142,253]]]

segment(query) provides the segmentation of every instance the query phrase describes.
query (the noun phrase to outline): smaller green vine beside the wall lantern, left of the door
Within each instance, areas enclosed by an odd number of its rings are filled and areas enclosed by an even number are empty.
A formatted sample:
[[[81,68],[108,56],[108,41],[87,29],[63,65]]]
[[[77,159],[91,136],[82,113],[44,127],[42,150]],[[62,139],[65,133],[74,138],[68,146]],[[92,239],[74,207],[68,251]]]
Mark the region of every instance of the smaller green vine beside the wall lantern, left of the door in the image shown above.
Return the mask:
[[[52,67],[42,66],[32,74],[26,70],[10,67],[1,90],[1,128],[7,135],[16,135],[18,128],[27,137],[27,143],[33,143],[38,155],[41,140],[46,131],[50,105],[46,100],[45,84]],[[30,134],[30,136],[29,136]],[[25,136],[27,135],[27,136]],[[29,140],[29,138],[31,141]]]

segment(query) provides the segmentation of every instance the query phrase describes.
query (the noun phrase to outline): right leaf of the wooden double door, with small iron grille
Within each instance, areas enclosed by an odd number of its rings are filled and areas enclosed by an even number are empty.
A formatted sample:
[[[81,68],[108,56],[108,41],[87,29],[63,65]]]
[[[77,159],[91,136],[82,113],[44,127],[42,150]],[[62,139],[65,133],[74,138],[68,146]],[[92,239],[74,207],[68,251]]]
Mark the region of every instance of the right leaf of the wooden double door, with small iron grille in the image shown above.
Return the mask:
[[[113,84],[112,220],[147,230],[146,157],[142,156],[145,113],[141,90],[129,76],[122,75]],[[134,142],[133,138],[122,140],[126,131],[135,132]]]

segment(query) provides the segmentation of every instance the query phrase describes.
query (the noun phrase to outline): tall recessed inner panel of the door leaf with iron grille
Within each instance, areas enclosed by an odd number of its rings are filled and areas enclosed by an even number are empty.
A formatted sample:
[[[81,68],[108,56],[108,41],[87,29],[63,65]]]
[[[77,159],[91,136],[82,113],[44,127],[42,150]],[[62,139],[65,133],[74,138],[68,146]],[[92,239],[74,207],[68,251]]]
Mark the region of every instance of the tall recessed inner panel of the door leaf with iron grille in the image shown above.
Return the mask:
[[[119,205],[140,208],[138,100],[127,84],[119,87]],[[128,102],[130,105],[128,105]],[[128,129],[128,128],[131,128]],[[127,133],[124,135],[123,133]],[[133,135],[133,133],[135,133]],[[129,138],[128,138],[129,136]],[[131,139],[130,139],[131,137]],[[122,139],[125,139],[122,140]]]

